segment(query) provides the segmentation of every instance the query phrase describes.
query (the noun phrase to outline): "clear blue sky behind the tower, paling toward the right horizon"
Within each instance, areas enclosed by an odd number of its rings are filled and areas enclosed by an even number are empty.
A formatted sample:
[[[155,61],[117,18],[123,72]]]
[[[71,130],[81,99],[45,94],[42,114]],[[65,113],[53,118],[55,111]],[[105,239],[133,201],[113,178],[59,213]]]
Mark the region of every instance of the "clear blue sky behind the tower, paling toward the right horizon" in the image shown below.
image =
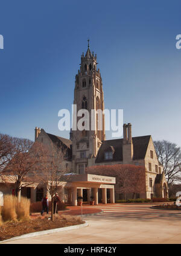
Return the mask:
[[[180,1],[3,1],[0,132],[34,139],[34,127],[68,138],[81,53],[97,53],[108,109],[124,109],[133,136],[181,146]],[[107,139],[111,139],[110,132]]]

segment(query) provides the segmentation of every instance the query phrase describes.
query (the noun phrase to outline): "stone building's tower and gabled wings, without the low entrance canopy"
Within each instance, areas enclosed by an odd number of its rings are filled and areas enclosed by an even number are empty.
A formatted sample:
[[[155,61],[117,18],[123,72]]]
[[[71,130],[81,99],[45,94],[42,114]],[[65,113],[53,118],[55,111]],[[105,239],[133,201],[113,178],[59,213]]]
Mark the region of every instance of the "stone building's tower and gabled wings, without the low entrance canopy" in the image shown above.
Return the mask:
[[[81,55],[81,64],[75,75],[74,104],[76,124],[80,109],[104,110],[103,82],[100,69],[97,69],[97,55],[87,52]],[[91,115],[89,115],[91,118]],[[98,130],[98,117],[95,115],[94,129],[71,130],[70,139],[50,135],[43,129],[35,130],[35,138],[40,142],[49,143],[51,139],[60,139],[68,149],[69,158],[65,165],[68,171],[83,174],[86,167],[92,165],[133,164],[145,167],[145,194],[141,197],[168,197],[168,186],[163,166],[159,163],[151,135],[132,137],[132,125],[124,124],[123,138],[106,140],[104,114],[102,130]],[[89,119],[89,124],[91,120]],[[116,199],[121,195],[116,193]]]

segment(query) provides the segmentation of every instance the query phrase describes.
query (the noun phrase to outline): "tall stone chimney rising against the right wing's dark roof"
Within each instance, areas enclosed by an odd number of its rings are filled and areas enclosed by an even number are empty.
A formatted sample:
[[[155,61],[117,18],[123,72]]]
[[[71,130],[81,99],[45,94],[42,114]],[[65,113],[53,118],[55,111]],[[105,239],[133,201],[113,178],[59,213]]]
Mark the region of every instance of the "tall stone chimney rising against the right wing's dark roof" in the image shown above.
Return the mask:
[[[132,164],[133,160],[133,142],[132,142],[132,124],[123,125],[123,143],[122,143],[123,164]]]

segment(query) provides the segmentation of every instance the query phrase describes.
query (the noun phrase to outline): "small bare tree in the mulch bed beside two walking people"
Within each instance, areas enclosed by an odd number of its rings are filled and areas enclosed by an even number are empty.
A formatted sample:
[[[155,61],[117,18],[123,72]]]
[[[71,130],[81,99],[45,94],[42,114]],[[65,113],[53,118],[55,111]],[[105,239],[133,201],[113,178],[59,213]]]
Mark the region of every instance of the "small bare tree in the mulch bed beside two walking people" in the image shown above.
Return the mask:
[[[61,142],[51,142],[51,146],[43,147],[43,154],[39,158],[38,170],[34,171],[34,176],[36,181],[46,184],[46,191],[51,197],[51,220],[53,221],[54,195],[57,188],[62,187],[62,177],[67,172],[65,167],[67,148]]]

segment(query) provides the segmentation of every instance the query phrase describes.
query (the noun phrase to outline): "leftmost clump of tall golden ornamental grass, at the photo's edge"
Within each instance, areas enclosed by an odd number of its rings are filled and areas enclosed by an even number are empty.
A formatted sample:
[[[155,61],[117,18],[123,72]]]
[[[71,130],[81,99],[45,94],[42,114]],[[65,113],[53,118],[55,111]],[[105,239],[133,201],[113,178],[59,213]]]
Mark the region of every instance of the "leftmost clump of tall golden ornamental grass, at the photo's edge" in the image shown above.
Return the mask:
[[[2,206],[1,215],[4,221],[16,220],[16,197],[5,194],[4,206]]]

